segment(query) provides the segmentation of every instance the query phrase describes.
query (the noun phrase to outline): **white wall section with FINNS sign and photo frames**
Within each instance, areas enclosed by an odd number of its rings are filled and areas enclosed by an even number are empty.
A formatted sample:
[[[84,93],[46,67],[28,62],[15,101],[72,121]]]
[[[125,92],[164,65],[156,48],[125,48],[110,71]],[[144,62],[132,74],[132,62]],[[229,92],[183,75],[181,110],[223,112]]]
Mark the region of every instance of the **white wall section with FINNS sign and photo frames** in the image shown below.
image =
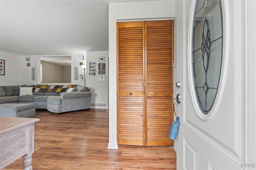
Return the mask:
[[[100,62],[106,63],[105,81],[98,80],[99,57],[105,57],[105,62]],[[89,75],[90,61],[96,62],[96,76]],[[101,106],[95,108],[108,108],[108,51],[88,51],[86,53],[86,65],[86,86],[92,92],[91,103],[106,103],[106,107]]]

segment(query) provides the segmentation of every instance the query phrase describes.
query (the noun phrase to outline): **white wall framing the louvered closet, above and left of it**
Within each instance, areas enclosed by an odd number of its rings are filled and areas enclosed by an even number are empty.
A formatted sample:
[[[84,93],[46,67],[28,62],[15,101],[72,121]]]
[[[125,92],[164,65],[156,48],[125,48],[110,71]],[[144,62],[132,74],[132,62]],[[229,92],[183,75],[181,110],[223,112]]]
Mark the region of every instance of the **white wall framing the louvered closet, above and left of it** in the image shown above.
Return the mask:
[[[109,4],[109,149],[117,149],[116,22],[175,17],[175,0]]]

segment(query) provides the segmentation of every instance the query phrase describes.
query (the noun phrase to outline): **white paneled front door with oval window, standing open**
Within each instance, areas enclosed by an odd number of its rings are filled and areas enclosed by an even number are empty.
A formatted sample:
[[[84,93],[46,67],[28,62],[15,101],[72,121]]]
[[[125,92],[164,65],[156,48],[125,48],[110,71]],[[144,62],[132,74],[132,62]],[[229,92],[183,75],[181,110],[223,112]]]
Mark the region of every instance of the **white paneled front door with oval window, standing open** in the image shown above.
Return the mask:
[[[213,0],[201,0],[199,3],[208,6],[208,10],[219,3],[218,0],[210,1]],[[174,142],[177,169],[236,170],[256,167],[256,1],[222,0],[220,3],[223,17],[222,65],[218,91],[212,102],[213,99],[208,97],[208,100],[202,100],[201,92],[198,97],[198,87],[194,87],[195,77],[200,76],[200,73],[193,72],[192,65],[196,0],[176,1],[174,81],[181,83],[179,88],[174,88],[174,96],[181,95],[181,103],[175,107],[176,115],[180,117],[180,129]],[[209,15],[209,24],[218,25],[214,15]],[[209,27],[212,29],[215,26]],[[217,32],[212,29],[211,36],[214,37]],[[204,33],[201,37],[205,38],[207,31]],[[215,39],[212,38],[212,41]],[[213,43],[211,48],[214,51]],[[218,72],[220,62],[210,62],[213,61],[209,60],[209,65],[214,64]],[[205,60],[201,66],[206,68],[206,65],[208,61]],[[209,92],[208,85],[203,87],[201,90],[204,93]],[[211,109],[205,107],[211,102]]]

